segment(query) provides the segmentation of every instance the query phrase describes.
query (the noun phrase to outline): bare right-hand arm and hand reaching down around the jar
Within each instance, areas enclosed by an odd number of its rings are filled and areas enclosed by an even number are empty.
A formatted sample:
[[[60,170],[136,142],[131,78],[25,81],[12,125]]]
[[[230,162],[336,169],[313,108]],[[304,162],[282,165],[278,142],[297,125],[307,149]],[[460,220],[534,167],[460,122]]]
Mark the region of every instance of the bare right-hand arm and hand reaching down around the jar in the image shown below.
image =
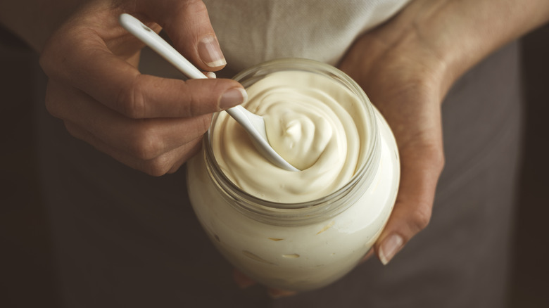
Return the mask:
[[[401,183],[375,245],[386,264],[429,223],[444,164],[440,105],[467,70],[549,20],[545,0],[415,0],[360,37],[341,62],[386,117],[401,158]]]

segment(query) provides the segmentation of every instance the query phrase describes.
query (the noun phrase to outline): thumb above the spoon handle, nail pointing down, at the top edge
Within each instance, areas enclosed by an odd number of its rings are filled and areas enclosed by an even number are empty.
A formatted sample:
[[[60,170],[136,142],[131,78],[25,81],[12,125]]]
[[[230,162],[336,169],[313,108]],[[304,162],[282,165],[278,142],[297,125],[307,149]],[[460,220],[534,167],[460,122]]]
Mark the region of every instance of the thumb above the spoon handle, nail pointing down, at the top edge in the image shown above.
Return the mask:
[[[203,70],[220,70],[227,64],[203,1],[139,1],[137,8],[162,25],[175,49]]]

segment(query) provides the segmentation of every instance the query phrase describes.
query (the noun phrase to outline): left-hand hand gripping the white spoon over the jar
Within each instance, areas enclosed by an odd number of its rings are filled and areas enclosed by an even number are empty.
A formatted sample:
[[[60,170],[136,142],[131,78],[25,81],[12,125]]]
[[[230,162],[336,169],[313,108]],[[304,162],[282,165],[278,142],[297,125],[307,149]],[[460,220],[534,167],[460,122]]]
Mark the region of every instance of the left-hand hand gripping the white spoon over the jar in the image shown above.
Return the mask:
[[[118,24],[130,13],[160,32],[199,69],[225,66],[202,1],[96,0],[47,41],[40,64],[46,108],[67,130],[147,174],[175,172],[201,145],[211,114],[245,101],[230,79],[165,79],[137,70],[144,44]],[[156,23],[153,23],[156,22]]]

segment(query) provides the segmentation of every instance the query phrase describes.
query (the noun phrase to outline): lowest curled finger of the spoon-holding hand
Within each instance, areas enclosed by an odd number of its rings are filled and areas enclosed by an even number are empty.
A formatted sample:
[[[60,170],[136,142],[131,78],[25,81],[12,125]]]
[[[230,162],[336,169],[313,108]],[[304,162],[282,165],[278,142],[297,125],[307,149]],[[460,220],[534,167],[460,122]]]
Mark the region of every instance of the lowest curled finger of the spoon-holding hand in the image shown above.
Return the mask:
[[[90,134],[86,129],[82,129],[77,124],[74,124],[68,120],[65,120],[65,127],[69,133],[77,139],[89,143],[97,150],[106,153],[115,160],[122,162],[122,164],[137,169],[141,172],[145,172],[154,177],[160,177],[163,174],[176,172],[184,162],[189,160],[195,155],[201,147],[202,138],[197,138],[193,141],[185,143],[179,148],[170,150],[167,153],[163,153],[156,158],[150,160],[142,160],[132,155],[128,155],[125,152],[114,148],[108,143],[98,139],[93,134]]]

